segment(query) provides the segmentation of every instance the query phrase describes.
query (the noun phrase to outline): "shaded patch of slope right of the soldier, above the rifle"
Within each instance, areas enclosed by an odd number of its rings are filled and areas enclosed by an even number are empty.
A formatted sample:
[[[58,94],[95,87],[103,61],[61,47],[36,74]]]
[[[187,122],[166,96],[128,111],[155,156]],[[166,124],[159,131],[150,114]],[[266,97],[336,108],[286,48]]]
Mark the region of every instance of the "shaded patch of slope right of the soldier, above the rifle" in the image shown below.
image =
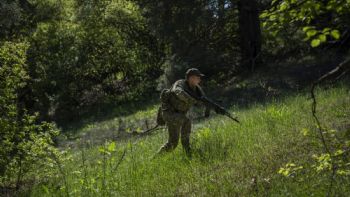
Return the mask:
[[[331,71],[343,61],[343,58],[311,57],[309,60],[289,63],[274,63],[260,67],[254,74],[237,77],[233,84],[223,85],[208,93],[224,106],[239,109],[249,108],[252,104],[267,104],[283,100],[300,91],[308,92],[311,84],[322,75]],[[349,76],[349,75],[348,75]],[[345,85],[350,77],[343,77]],[[327,82],[326,82],[327,83]],[[349,86],[350,87],[350,86]]]

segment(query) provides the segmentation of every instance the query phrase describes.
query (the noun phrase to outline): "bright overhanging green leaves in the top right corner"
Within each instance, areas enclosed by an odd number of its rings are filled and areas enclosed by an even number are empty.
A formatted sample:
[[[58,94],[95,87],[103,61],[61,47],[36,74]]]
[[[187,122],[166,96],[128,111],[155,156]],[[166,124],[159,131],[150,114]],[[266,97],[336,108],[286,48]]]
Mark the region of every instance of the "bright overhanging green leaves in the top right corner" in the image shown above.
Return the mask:
[[[311,47],[342,39],[341,32],[349,27],[350,3],[346,0],[283,0],[272,4],[275,6],[260,15],[266,33],[276,36],[299,31],[291,35],[298,39],[302,30],[304,41],[310,41]]]

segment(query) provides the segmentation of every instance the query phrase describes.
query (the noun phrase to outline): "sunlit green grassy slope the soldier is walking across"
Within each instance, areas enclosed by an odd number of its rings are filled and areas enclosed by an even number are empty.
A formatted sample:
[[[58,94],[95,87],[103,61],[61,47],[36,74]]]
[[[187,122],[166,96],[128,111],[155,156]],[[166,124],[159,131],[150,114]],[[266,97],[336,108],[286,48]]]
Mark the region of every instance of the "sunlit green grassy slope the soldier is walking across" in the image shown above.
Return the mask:
[[[317,90],[323,126],[350,138],[350,90],[345,84]],[[136,114],[154,114],[150,107]],[[193,158],[181,145],[153,158],[166,141],[165,129],[153,135],[109,140],[94,145],[81,140],[68,150],[56,178],[35,185],[29,196],[325,196],[329,173],[316,172],[312,155],[322,153],[305,92],[235,111],[242,124],[212,116],[193,126]],[[126,119],[132,119],[132,116]],[[80,133],[115,130],[117,120],[94,123]],[[107,128],[108,127],[108,128]],[[85,130],[84,130],[85,129]],[[308,131],[308,132],[306,132]],[[286,163],[303,169],[285,177]],[[350,176],[336,176],[333,194],[350,196]]]

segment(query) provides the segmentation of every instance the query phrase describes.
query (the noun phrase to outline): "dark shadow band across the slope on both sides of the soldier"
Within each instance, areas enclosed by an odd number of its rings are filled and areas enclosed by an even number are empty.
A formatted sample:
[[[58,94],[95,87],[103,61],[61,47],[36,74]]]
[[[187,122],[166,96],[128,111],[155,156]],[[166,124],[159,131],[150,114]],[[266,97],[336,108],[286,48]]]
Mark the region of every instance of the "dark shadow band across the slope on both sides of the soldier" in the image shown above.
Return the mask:
[[[267,104],[283,100],[300,91],[309,91],[310,84],[323,74],[335,68],[342,58],[309,57],[306,60],[295,60],[287,63],[275,62],[260,67],[253,74],[243,74],[233,82],[217,85],[207,89],[207,95],[224,107],[234,109],[249,108],[252,104]],[[350,81],[347,77],[343,81]],[[205,83],[205,82],[204,82]],[[350,84],[350,83],[345,83]],[[59,124],[63,132],[79,130],[84,125],[114,119],[146,110],[159,104],[159,92],[154,92],[142,100],[126,103],[106,103],[86,109],[77,120]],[[201,117],[202,111],[194,110],[194,117]],[[156,117],[146,117],[155,119]],[[201,118],[194,122],[200,121]],[[144,128],[142,128],[144,129]],[[72,133],[71,133],[72,132]]]

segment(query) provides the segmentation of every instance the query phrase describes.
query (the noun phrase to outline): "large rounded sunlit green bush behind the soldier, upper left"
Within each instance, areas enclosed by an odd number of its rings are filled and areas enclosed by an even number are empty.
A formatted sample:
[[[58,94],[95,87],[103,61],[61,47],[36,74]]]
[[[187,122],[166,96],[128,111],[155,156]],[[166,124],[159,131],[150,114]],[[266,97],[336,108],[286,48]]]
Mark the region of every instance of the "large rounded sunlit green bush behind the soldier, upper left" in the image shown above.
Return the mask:
[[[63,22],[40,23],[30,38],[34,109],[44,119],[62,123],[87,107],[136,100],[155,87],[161,52],[134,3],[66,6],[73,16],[66,11]]]

